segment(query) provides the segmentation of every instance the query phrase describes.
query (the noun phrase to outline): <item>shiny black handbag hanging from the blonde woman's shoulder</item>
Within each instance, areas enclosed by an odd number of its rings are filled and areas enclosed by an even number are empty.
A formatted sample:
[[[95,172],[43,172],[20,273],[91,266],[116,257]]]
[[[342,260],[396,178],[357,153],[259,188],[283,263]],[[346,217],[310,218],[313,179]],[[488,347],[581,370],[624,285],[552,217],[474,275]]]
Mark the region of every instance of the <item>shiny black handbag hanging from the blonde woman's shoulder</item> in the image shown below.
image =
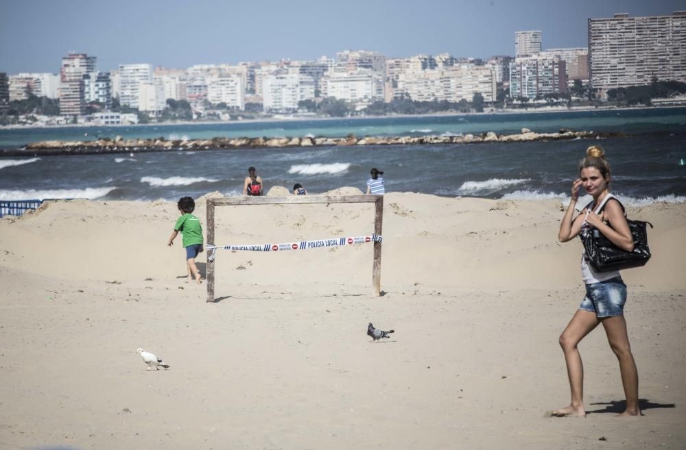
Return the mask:
[[[614,198],[614,197],[613,197]],[[617,200],[615,198],[615,200]],[[619,200],[617,200],[619,202]],[[619,202],[624,211],[624,205]],[[602,212],[605,205],[602,205],[598,214]],[[624,213],[626,217],[626,212]],[[603,236],[597,228],[591,228],[591,233],[583,239],[584,249],[588,263],[596,272],[619,271],[624,268],[641,267],[650,260],[650,248],[648,248],[648,228],[646,225],[652,223],[643,221],[632,221],[626,219],[629,224],[631,236],[634,238],[634,249],[625,251],[614,245],[611,240]]]

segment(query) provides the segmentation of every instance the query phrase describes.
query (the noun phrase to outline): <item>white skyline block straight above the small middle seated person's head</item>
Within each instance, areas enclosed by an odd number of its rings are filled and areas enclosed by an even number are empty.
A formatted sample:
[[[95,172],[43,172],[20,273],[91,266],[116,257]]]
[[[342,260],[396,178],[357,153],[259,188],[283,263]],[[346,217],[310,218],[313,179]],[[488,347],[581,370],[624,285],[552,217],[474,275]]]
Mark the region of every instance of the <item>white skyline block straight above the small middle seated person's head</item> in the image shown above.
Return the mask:
[[[314,86],[314,78],[309,75],[268,75],[263,79],[262,108],[273,112],[295,111],[300,101],[314,99]]]

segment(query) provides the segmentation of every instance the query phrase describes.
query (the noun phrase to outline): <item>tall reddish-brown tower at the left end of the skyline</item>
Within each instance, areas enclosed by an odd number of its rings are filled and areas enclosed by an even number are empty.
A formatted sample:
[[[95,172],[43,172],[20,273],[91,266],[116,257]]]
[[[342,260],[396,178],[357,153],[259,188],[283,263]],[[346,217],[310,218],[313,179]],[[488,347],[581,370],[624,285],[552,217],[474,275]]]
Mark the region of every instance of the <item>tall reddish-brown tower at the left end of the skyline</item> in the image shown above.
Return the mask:
[[[62,58],[60,69],[60,114],[82,116],[86,112],[84,75],[95,72],[95,56],[69,53]]]

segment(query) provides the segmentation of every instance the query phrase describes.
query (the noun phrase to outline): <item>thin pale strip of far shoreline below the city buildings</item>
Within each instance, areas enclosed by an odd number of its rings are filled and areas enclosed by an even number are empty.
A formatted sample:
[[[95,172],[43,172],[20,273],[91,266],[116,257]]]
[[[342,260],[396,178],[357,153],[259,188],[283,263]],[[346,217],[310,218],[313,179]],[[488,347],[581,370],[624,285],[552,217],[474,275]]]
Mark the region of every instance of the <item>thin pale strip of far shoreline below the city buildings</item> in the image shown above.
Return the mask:
[[[237,123],[283,123],[283,122],[307,122],[307,121],[359,121],[365,119],[382,118],[423,118],[423,117],[469,117],[469,116],[489,116],[489,115],[508,115],[508,114],[554,114],[556,112],[589,112],[589,111],[633,111],[633,110],[657,110],[657,109],[686,109],[686,106],[580,106],[578,108],[531,108],[528,110],[508,109],[493,110],[493,112],[436,112],[431,114],[388,114],[384,116],[348,116],[348,117],[324,117],[324,116],[293,116],[284,118],[250,118],[240,121],[174,121],[160,123],[133,123],[118,125],[95,125],[91,123],[76,123],[72,125],[0,125],[0,130],[4,129],[69,129],[69,128],[97,128],[97,127],[174,127],[178,125],[233,125]]]

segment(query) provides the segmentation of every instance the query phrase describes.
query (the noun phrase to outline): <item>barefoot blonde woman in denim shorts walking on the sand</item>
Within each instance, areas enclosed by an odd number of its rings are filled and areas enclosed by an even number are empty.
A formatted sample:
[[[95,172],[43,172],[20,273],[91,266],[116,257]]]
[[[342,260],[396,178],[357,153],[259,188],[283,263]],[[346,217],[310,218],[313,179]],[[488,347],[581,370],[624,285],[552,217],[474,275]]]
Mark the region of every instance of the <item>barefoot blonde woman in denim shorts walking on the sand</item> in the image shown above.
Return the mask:
[[[591,238],[593,229],[596,229],[620,249],[632,251],[634,240],[622,203],[609,192],[610,165],[600,147],[591,146],[587,149],[586,158],[579,164],[579,174],[580,177],[571,185],[571,200],[560,223],[560,242],[567,242],[576,236],[581,236],[582,240]],[[593,196],[593,202],[572,219],[580,187]],[[624,320],[626,285],[619,276],[619,271],[595,272],[587,262],[585,252],[581,259],[581,274],[586,284],[586,297],[560,336],[560,346],[567,362],[571,404],[553,411],[552,415],[586,416],[583,403],[584,368],[577,345],[602,323],[610,347],[619,360],[619,371],[622,374],[626,410],[619,415],[638,416],[641,414],[639,377]]]

